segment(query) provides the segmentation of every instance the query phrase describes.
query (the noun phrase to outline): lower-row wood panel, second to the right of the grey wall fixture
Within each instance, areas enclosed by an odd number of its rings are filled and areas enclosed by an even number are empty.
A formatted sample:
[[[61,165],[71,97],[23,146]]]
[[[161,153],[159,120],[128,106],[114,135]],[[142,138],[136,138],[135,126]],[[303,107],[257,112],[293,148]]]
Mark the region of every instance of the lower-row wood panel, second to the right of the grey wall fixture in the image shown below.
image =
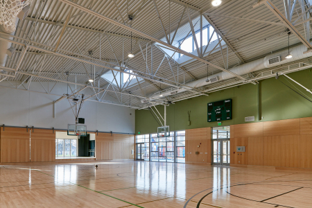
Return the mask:
[[[279,136],[263,137],[263,166],[281,166]]]

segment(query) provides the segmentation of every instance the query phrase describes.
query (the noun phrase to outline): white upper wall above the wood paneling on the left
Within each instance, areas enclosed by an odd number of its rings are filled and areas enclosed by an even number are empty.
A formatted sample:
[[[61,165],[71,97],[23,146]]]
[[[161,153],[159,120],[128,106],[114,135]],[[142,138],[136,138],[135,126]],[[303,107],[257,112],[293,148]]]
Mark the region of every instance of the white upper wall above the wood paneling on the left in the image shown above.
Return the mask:
[[[19,84],[17,83],[17,86]],[[31,83],[29,88],[30,91],[37,92],[8,88],[16,85],[14,82],[10,84],[3,81],[1,85],[0,125],[28,125],[35,128],[67,129],[68,123],[75,123],[75,116],[66,98],[55,104],[55,118],[53,118],[53,101],[60,98],[60,95],[67,93],[66,83],[55,85],[50,93],[56,95],[38,93],[38,91],[45,91],[37,82]],[[26,88],[27,85],[25,84]],[[54,84],[42,83],[42,85],[49,91]],[[22,86],[19,88],[25,89]],[[75,86],[73,85],[71,88],[74,89]],[[87,88],[84,93],[92,94],[90,90]],[[69,94],[71,94],[70,89]],[[108,95],[105,96],[105,100],[118,102]],[[130,107],[85,101],[79,117],[85,118],[87,130],[135,133],[135,110]]]

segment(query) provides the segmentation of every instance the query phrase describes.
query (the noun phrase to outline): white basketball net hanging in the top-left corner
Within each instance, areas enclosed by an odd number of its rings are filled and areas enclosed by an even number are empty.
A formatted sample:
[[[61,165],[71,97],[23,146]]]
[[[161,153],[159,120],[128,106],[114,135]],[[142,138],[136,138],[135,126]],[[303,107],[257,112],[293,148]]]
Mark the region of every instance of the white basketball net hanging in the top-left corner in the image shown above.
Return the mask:
[[[15,20],[21,10],[33,0],[0,0],[0,24],[6,30],[15,28]]]

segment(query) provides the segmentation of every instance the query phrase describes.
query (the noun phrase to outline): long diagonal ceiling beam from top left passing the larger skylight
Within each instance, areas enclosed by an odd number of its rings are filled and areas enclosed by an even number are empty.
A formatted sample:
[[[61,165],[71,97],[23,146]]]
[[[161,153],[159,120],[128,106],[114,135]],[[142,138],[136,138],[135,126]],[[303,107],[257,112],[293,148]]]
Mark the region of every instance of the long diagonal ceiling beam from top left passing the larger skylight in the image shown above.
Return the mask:
[[[159,43],[159,44],[163,44],[164,46],[167,46],[168,48],[174,49],[174,50],[177,51],[178,53],[182,53],[183,55],[187,55],[187,56],[189,56],[189,57],[191,57],[191,58],[194,58],[194,59],[196,59],[196,60],[199,60],[200,62],[203,62],[203,63],[205,63],[205,64],[209,64],[211,67],[215,67],[216,69],[220,69],[220,70],[225,71],[225,72],[227,72],[227,73],[231,73],[233,76],[236,76],[236,77],[238,77],[238,78],[241,78],[242,80],[245,80],[245,78],[243,78],[242,76],[239,76],[238,74],[236,74],[236,73],[234,73],[234,72],[232,72],[232,71],[228,71],[227,69],[224,69],[224,68],[222,68],[222,67],[219,67],[219,66],[217,66],[216,64],[212,64],[211,62],[208,62],[207,60],[204,60],[204,59],[202,59],[202,58],[200,58],[200,57],[198,57],[198,56],[196,56],[196,55],[193,55],[193,54],[191,54],[191,53],[187,53],[186,51],[183,51],[182,49],[178,49],[177,47],[172,46],[171,44],[168,44],[168,43],[166,43],[166,42],[162,42],[161,40],[158,40],[157,38],[152,37],[152,36],[150,36],[150,35],[147,35],[146,33],[143,33],[143,32],[141,32],[141,31],[137,31],[135,28],[132,28],[132,27],[130,27],[130,26],[126,26],[126,25],[122,24],[121,22],[116,21],[116,20],[114,20],[114,19],[110,19],[109,17],[106,17],[106,16],[104,16],[104,15],[101,15],[101,14],[99,14],[98,12],[95,12],[94,10],[89,10],[88,8],[85,8],[84,6],[81,6],[81,5],[78,4],[78,3],[73,3],[72,1],[69,1],[69,0],[60,0],[60,1],[62,1],[62,2],[64,2],[64,3],[67,3],[68,5],[73,6],[73,7],[75,7],[75,8],[78,8],[78,9],[80,9],[80,10],[83,10],[83,11],[89,13],[90,15],[93,15],[94,17],[98,17],[99,19],[103,19],[103,20],[105,20],[105,21],[108,21],[108,22],[110,22],[110,23],[112,23],[112,24],[114,24],[114,25],[116,25],[116,26],[120,26],[121,28],[125,28],[125,29],[128,30],[128,31],[132,31],[133,33],[136,33],[137,35],[140,35],[141,37],[146,37],[146,38],[148,38],[148,39],[151,40],[151,41],[157,42],[157,43]],[[209,19],[209,18],[208,18],[208,19]]]

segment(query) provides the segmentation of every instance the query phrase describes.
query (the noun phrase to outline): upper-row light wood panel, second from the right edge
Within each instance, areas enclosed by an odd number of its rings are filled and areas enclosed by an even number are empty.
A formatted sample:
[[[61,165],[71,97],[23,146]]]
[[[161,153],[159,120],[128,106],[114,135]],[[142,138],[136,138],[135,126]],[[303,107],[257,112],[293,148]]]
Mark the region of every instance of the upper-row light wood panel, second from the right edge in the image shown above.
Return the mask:
[[[263,122],[263,136],[300,135],[300,119]]]

